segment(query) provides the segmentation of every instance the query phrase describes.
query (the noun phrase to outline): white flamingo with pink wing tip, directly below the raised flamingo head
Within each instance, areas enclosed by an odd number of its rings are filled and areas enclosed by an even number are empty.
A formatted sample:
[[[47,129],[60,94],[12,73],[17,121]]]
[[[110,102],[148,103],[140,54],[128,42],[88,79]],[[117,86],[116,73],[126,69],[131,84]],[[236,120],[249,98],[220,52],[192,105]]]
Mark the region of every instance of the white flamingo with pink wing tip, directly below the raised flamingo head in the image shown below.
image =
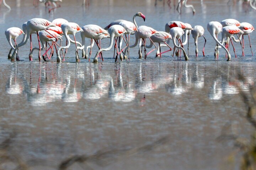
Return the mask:
[[[151,27],[147,27],[147,26],[139,26],[138,27],[138,32],[135,33],[135,43],[133,45],[130,46],[130,48],[133,48],[135,46],[137,46],[139,39],[142,39],[142,43],[144,46],[144,54],[145,54],[145,59],[146,56],[149,55],[149,53],[151,53],[152,51],[154,51],[155,49],[157,49],[156,45],[154,44],[154,42],[150,39],[150,37],[157,33],[158,31],[156,31],[155,29],[151,28]],[[153,43],[153,45],[155,46],[155,49],[151,50],[150,52],[148,52],[146,54],[146,38],[149,38],[149,40]],[[139,46],[139,58],[142,58],[141,55],[141,49]]]

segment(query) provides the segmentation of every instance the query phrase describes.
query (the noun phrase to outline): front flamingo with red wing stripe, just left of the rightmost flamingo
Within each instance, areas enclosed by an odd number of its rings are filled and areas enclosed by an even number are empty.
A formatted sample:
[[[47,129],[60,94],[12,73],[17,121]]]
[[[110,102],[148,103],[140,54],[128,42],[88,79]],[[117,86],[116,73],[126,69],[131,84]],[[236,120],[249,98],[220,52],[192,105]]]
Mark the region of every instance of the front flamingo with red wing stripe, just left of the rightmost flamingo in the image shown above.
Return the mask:
[[[232,39],[231,37],[235,34],[243,34],[244,32],[242,32],[241,29],[239,29],[238,27],[236,26],[226,26],[226,27],[223,27],[222,28],[222,44],[224,43],[224,40],[226,38],[226,40],[230,41],[232,46],[233,46],[233,49],[234,49],[234,53],[235,53],[235,47],[233,45],[233,42],[232,42]],[[228,43],[229,44],[229,43]],[[227,44],[227,45],[228,45]],[[228,48],[228,46],[226,46],[226,48]],[[235,57],[236,57],[236,53],[235,53]],[[229,59],[228,59],[229,60]]]

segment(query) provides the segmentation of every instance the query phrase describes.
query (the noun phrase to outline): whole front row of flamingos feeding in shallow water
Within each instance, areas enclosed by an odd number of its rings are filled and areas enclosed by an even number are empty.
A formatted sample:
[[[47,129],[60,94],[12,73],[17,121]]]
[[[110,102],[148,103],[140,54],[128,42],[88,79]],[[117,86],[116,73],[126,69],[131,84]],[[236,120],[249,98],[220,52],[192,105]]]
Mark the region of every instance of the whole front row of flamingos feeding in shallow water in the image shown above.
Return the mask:
[[[161,57],[162,53],[166,53],[172,50],[170,47],[170,40],[172,40],[174,44],[174,52],[172,56],[174,56],[174,53],[176,56],[180,56],[181,59],[181,51],[183,52],[184,58],[187,61],[188,55],[186,51],[184,50],[184,45],[188,44],[190,34],[192,34],[192,37],[194,38],[194,44],[196,46],[196,57],[198,56],[198,48],[197,48],[197,39],[198,37],[203,36],[204,38],[204,28],[202,26],[192,26],[188,23],[183,23],[180,21],[170,21],[166,23],[165,25],[165,32],[157,31],[151,27],[148,26],[139,26],[137,25],[135,21],[135,17],[141,17],[145,21],[145,15],[143,15],[141,12],[136,13],[133,16],[133,22],[126,21],[123,19],[118,19],[116,21],[111,22],[108,26],[106,26],[104,29],[100,26],[90,24],[86,25],[84,27],[80,27],[78,24],[73,22],[68,22],[65,19],[58,18],[54,19],[53,22],[50,22],[46,19],[42,18],[33,18],[25,22],[22,26],[22,29],[17,27],[11,27],[8,28],[5,31],[6,38],[11,46],[8,58],[11,59],[11,61],[20,60],[18,57],[18,48],[25,45],[30,38],[30,53],[29,53],[29,60],[32,61],[33,58],[33,51],[38,50],[38,58],[39,61],[41,60],[41,51],[45,50],[42,57],[44,61],[46,60],[46,57],[50,59],[51,56],[53,56],[55,47],[56,54],[57,54],[57,62],[62,62],[65,60],[65,54],[66,50],[69,48],[70,44],[75,44],[76,51],[76,62],[80,62],[78,50],[82,50],[82,57],[87,59],[88,54],[87,51],[90,48],[89,52],[89,62],[90,57],[92,53],[92,47],[94,46],[94,42],[98,47],[98,51],[94,57],[94,63],[98,62],[98,56],[103,61],[103,55],[102,51],[109,51],[113,44],[114,44],[114,56],[116,51],[116,57],[115,62],[118,62],[118,56],[120,60],[123,59],[130,60],[129,57],[129,51],[130,48],[136,47],[139,43],[139,58],[142,58],[142,51],[144,47],[144,59],[146,60],[146,57],[153,52],[156,51],[156,57]],[[250,41],[250,33],[253,32],[255,29],[250,23],[240,23],[239,21],[236,21],[235,19],[225,19],[221,23],[217,21],[212,21],[207,24],[207,30],[209,31],[210,35],[212,35],[213,39],[216,41],[216,46],[214,49],[214,56],[215,60],[218,60],[219,57],[219,48],[223,48],[226,51],[226,58],[228,61],[231,60],[231,55],[229,53],[229,47],[230,42],[233,46],[235,57],[235,47],[233,45],[234,42],[240,42],[241,49],[242,49],[242,56],[244,56],[244,35],[249,36]],[[78,41],[76,41],[75,34],[80,32],[81,38],[82,38],[82,44]],[[219,33],[222,33],[222,39],[221,41],[218,40],[217,36]],[[23,35],[23,40],[20,42],[20,44],[17,44],[16,38],[21,35]],[[31,42],[31,34],[37,34],[38,38],[38,45],[39,47],[32,48],[32,42]],[[69,34],[73,35],[74,40],[72,40],[69,37]],[[130,45],[130,35],[135,34],[135,43],[133,45]],[[62,46],[62,35],[65,36],[66,39],[66,45]],[[185,36],[185,41],[181,41],[181,37]],[[237,35],[237,38],[235,38],[234,35]],[[125,38],[124,38],[125,36]],[[85,49],[85,38],[91,39],[91,44],[86,47]],[[110,44],[107,48],[101,48],[101,40],[105,38],[110,38]],[[11,39],[14,40],[15,45],[12,45]],[[146,45],[146,39],[149,39],[150,45]],[[176,39],[178,40],[178,44],[176,43]],[[57,41],[60,40],[60,44],[57,43]],[[118,41],[119,40],[119,41]],[[206,44],[206,39],[204,38],[204,46]],[[52,44],[49,44],[49,42],[52,41]],[[122,42],[125,42],[125,46],[122,48]],[[41,42],[41,43],[40,43]],[[225,46],[224,46],[225,43]],[[158,46],[157,46],[158,44]],[[47,45],[49,45],[47,49]],[[59,46],[59,48],[57,48]],[[150,48],[154,46],[154,49],[146,52],[146,48]],[[169,50],[167,51],[161,51],[162,46],[169,47]],[[250,42],[251,47],[251,42]],[[175,48],[177,50],[175,51]],[[63,51],[65,49],[65,52]],[[12,52],[12,50],[14,50]],[[48,51],[50,52],[50,55],[48,55]],[[12,53],[11,53],[12,52]],[[252,50],[251,50],[252,52]],[[62,55],[62,59],[61,59]],[[253,55],[253,53],[252,53]],[[203,47],[203,56],[204,56],[204,47]]]

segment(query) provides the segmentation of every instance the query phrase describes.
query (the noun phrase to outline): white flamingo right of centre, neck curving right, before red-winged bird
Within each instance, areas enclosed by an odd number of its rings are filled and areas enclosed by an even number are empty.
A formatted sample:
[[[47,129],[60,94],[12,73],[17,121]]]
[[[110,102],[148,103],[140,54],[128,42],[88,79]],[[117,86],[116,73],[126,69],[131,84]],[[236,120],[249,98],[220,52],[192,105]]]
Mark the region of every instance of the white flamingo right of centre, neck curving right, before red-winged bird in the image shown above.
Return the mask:
[[[186,28],[186,29],[191,29],[191,30],[193,30],[193,28]],[[170,34],[171,34],[171,36],[172,36],[172,42],[173,42],[173,44],[174,44],[174,48],[176,47],[177,49],[181,49],[181,50],[183,51],[185,60],[188,61],[188,56],[187,56],[185,50],[183,49],[183,45],[182,45],[182,42],[181,42],[181,40],[180,40],[180,37],[184,34],[183,29],[180,28],[180,27],[171,28],[171,29],[170,29]],[[178,39],[178,41],[180,41],[181,46],[177,46],[176,40],[175,40],[176,38]],[[174,50],[175,50],[175,49],[174,49]]]

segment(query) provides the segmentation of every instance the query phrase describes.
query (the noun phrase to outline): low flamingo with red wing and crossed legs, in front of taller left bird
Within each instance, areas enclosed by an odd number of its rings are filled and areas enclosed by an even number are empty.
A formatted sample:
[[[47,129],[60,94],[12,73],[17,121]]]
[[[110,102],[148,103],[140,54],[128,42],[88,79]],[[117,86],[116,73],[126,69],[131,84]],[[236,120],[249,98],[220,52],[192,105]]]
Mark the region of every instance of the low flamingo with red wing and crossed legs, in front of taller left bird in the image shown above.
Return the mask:
[[[30,52],[30,54],[29,54],[29,57],[31,58],[31,61],[32,61],[32,57],[33,57],[33,51],[34,50],[43,50],[45,47],[46,47],[46,42],[48,42],[48,41],[57,41],[58,39],[61,39],[62,38],[62,36],[60,35],[60,34],[58,34],[58,33],[56,33],[55,31],[53,31],[53,30],[48,30],[48,31],[46,31],[46,30],[42,30],[42,31],[40,31],[39,33],[38,33],[38,35],[39,35],[39,40],[40,40],[40,42],[41,42],[41,44],[42,44],[42,47],[41,47],[41,49],[39,49],[38,47],[34,47],[32,50],[31,50],[31,52]],[[55,48],[56,48],[56,46],[55,46]],[[50,48],[49,48],[50,49]],[[56,52],[57,52],[57,49],[56,49]],[[47,51],[46,51],[46,53],[47,53]],[[45,54],[46,54],[45,53]],[[41,58],[41,56],[39,56],[39,58]],[[43,55],[43,58],[44,58],[44,55]]]

